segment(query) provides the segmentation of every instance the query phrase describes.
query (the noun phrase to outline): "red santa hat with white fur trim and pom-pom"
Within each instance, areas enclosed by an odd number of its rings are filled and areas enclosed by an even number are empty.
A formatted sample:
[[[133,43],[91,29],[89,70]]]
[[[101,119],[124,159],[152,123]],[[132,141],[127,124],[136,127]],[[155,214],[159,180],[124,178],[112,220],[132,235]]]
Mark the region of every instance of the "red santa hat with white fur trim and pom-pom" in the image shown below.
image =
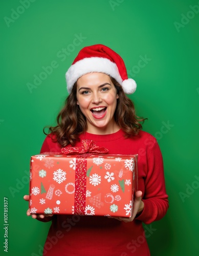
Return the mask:
[[[102,72],[118,81],[126,94],[136,91],[134,79],[128,78],[123,59],[104,45],[87,46],[80,50],[65,77],[67,90],[71,93],[74,83],[81,76],[91,72]]]

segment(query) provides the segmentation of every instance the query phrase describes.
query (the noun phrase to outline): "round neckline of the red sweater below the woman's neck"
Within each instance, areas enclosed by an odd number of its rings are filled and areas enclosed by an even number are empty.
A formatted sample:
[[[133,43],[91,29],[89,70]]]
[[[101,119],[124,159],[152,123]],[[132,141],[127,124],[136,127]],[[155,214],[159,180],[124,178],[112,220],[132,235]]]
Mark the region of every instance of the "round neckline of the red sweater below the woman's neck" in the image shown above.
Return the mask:
[[[105,135],[98,135],[98,134],[85,132],[84,134],[82,134],[82,139],[90,139],[95,141],[112,141],[112,140],[117,140],[123,136],[124,136],[124,132],[120,129],[116,133],[105,134]]]

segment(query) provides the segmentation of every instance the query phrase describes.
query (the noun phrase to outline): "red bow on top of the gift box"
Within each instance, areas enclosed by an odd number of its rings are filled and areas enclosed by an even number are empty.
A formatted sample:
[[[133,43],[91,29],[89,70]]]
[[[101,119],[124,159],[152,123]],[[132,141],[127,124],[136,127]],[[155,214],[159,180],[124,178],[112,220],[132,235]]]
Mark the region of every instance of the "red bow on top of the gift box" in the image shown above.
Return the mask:
[[[108,153],[107,148],[100,147],[95,144],[94,140],[82,140],[81,146],[72,146],[72,147],[62,147],[61,153],[67,154],[106,154]]]

